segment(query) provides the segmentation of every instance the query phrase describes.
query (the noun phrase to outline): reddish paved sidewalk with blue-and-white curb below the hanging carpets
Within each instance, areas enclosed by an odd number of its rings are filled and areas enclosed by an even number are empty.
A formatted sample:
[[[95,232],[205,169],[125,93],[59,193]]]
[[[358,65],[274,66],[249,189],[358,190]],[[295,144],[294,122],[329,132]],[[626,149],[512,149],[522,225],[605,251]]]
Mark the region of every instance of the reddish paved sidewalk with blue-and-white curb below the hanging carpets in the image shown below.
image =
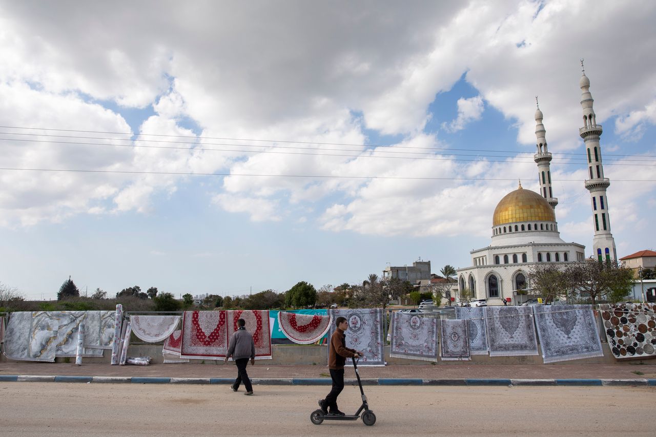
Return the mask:
[[[365,383],[374,385],[510,385],[512,383],[514,385],[656,386],[656,362],[642,365],[458,363],[360,366],[358,369]],[[251,379],[261,384],[325,385],[330,383],[328,367],[325,365],[270,365],[266,360],[258,360],[255,365],[249,365],[248,371]],[[346,379],[354,379],[353,369],[347,367],[345,376]],[[236,377],[236,368],[232,362],[228,365],[83,364],[79,367],[64,363],[0,363],[0,381],[220,384],[232,382],[234,377]]]

